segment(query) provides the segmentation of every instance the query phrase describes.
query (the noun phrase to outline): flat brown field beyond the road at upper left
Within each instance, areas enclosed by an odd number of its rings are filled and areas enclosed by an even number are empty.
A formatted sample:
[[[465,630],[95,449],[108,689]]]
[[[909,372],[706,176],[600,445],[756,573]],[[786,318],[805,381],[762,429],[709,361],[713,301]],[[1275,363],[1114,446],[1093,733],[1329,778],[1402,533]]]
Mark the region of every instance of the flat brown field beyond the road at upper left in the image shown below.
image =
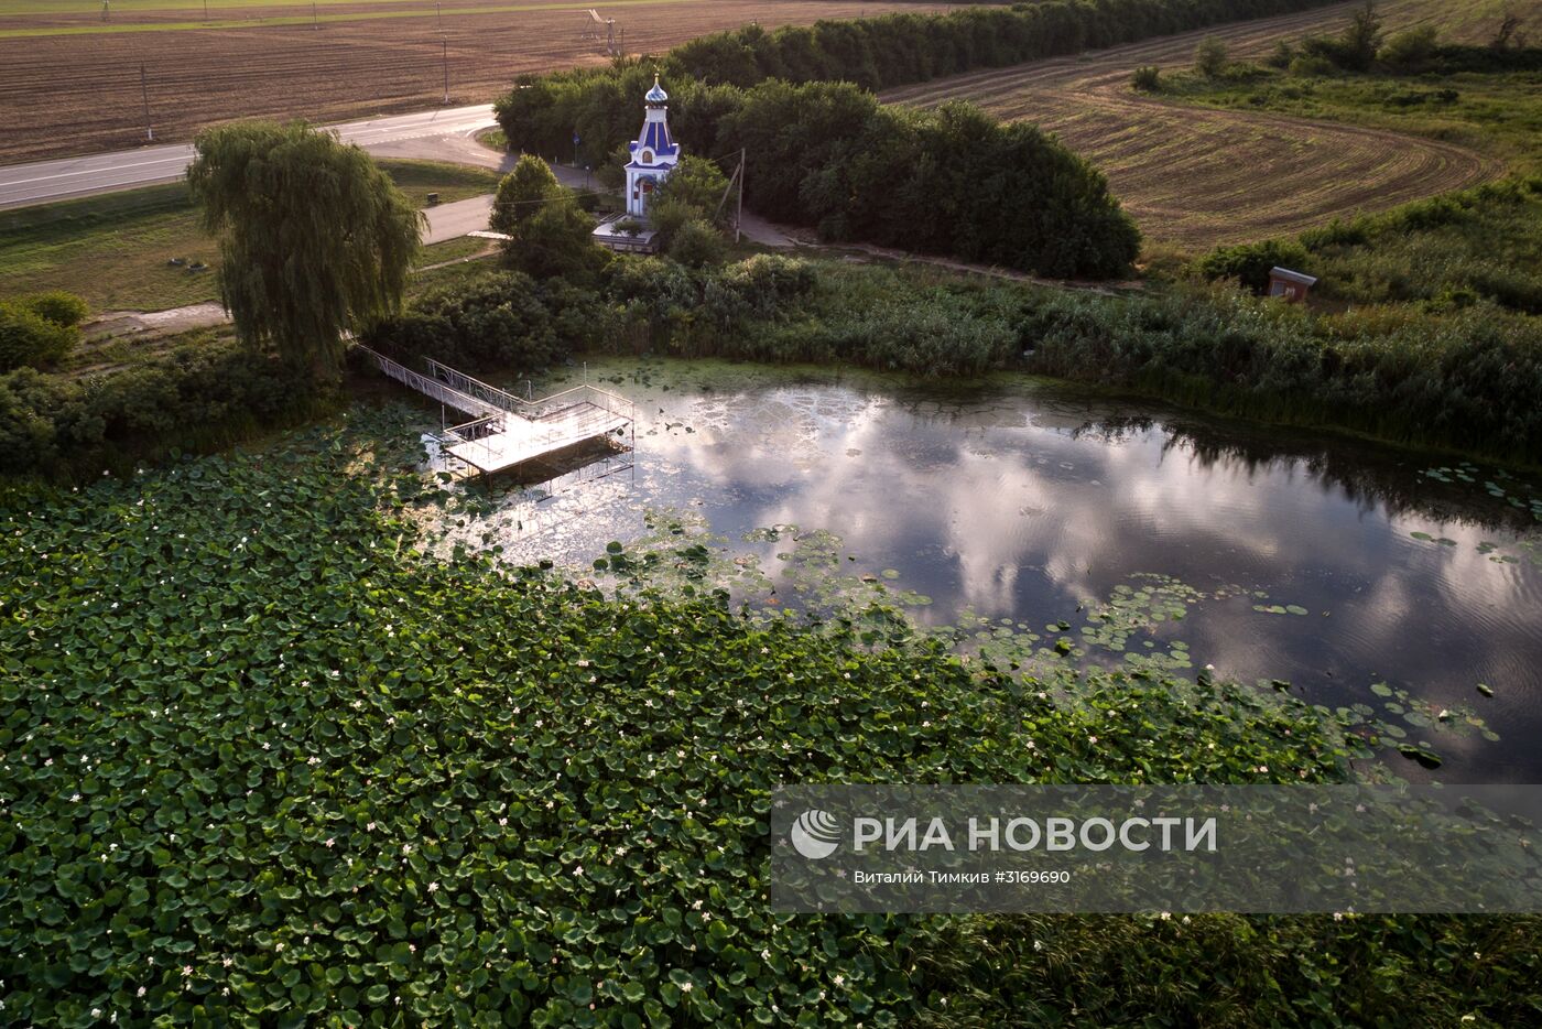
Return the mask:
[[[199,127],[236,117],[276,116],[344,120],[438,106],[444,97],[441,40],[447,43],[450,102],[493,99],[527,71],[552,71],[606,60],[592,40],[580,40],[578,6],[554,9],[497,0],[450,0],[443,34],[432,3],[416,11],[399,0],[333,3],[319,8],[321,28],[271,25],[262,15],[291,17],[296,6],[227,5],[211,17],[250,15],[250,25],[174,29],[154,25],[154,11],[134,9],[114,22],[146,22],[153,31],[0,39],[0,96],[6,131],[0,160],[22,162],[136,147],[145,137],[139,68],[150,82],[156,139],[187,139]],[[939,9],[945,5],[936,5]],[[0,8],[6,9],[6,8]],[[5,29],[42,26],[69,14],[0,15]],[[100,11],[82,0],[80,11]],[[626,49],[654,52],[749,22],[806,25],[925,5],[862,0],[648,0],[600,5],[625,29]],[[372,11],[378,17],[372,17]],[[185,22],[185,5],[168,12]],[[364,20],[330,20],[362,15]],[[404,17],[406,15],[406,17]],[[117,15],[114,15],[117,17]]]

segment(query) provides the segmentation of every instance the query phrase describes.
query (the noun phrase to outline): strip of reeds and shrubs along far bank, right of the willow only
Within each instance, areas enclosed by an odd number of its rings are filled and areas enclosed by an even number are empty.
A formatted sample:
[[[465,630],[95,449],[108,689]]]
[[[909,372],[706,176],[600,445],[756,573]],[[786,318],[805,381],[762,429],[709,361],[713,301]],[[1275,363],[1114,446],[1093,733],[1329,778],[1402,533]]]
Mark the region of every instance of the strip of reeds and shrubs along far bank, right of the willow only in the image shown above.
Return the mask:
[[[1490,190],[1473,207],[1453,205],[1456,214],[1439,210],[1460,222],[1488,204],[1502,214],[1508,204],[1539,201],[1534,191]],[[1372,253],[1375,227],[1403,234],[1388,221],[1362,227]],[[1440,288],[1439,278],[1428,285]],[[1448,284],[1445,295],[1457,288]],[[493,309],[501,318],[518,310],[526,321],[490,322]],[[540,367],[591,350],[922,376],[1010,369],[1519,466],[1534,466],[1542,454],[1534,404],[1542,326],[1488,298],[1314,313],[1224,284],[1109,298],[759,255],[694,270],[618,261],[591,288],[487,273],[430,292],[365,338],[398,358],[429,355],[484,370]]]

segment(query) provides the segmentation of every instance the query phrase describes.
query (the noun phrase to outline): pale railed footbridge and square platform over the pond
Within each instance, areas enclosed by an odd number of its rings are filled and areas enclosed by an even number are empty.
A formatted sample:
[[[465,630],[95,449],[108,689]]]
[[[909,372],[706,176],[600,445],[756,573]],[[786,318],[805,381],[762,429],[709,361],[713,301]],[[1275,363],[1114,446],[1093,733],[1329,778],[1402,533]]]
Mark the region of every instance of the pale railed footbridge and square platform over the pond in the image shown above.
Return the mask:
[[[355,346],[389,378],[472,417],[446,429],[439,443],[444,454],[480,474],[501,472],[583,443],[604,440],[621,446],[612,437],[626,435],[625,449],[635,441],[632,401],[588,383],[541,400],[523,400],[433,359],[426,363],[427,373],[415,372]]]

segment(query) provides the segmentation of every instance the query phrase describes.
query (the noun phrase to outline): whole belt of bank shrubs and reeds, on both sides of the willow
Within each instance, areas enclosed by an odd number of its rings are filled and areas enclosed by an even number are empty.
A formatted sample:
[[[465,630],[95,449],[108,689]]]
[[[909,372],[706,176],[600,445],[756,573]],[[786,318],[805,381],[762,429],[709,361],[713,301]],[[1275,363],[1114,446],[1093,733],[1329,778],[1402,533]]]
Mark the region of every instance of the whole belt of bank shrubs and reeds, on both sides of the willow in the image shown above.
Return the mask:
[[[1372,255],[1375,238],[1368,230]],[[1015,370],[1514,467],[1536,467],[1542,454],[1542,326],[1485,296],[1311,312],[1224,282],[1103,296],[776,255],[703,268],[621,259],[589,285],[486,262],[450,270],[401,316],[365,330],[365,342],[487,373],[537,372],[586,352],[924,378]],[[1445,296],[1465,288],[1425,285]],[[23,367],[0,375],[0,474],[122,471],[173,447],[296,426],[338,403],[211,333],[85,381]]]

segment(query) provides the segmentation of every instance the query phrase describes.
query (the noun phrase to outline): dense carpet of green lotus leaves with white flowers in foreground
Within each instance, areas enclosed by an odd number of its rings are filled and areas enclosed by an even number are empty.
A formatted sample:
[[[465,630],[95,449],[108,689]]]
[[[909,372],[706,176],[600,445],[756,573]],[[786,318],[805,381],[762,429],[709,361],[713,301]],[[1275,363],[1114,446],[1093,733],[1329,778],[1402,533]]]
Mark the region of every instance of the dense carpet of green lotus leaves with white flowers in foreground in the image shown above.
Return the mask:
[[[970,660],[882,606],[816,623],[736,611],[711,583],[609,597],[489,552],[432,557],[424,525],[475,498],[416,472],[409,418],[356,409],[256,452],[0,491],[0,611],[26,612],[0,619],[8,1017],[1542,1009],[1525,916],[766,910],[777,782],[1343,782],[1368,741],[1203,671]],[[608,565],[671,568],[694,543]]]

